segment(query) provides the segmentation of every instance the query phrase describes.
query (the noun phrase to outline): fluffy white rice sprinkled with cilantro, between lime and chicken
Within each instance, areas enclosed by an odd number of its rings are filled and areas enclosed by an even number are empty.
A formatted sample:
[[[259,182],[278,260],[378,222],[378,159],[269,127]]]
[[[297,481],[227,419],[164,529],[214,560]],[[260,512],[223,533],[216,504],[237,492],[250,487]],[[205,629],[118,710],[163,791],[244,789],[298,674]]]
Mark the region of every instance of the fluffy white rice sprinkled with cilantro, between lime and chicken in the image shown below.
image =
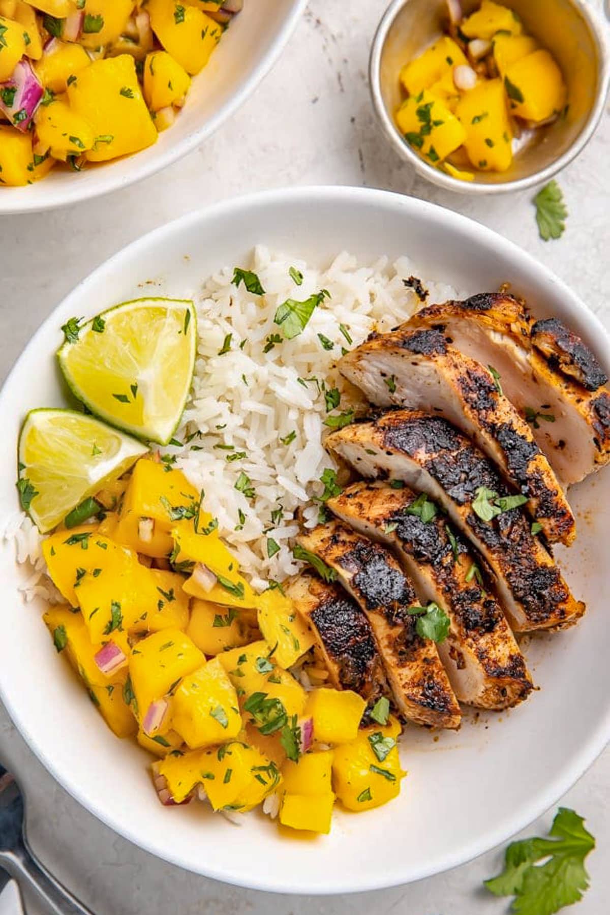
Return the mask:
[[[254,271],[265,295],[249,293],[243,283],[233,285],[235,266]],[[294,282],[291,267],[303,274],[302,285]],[[181,442],[194,437],[184,447],[166,451],[204,490],[206,509],[218,518],[219,533],[257,589],[270,578],[282,581],[298,571],[301,564],[291,550],[299,529],[296,511],[303,508],[303,522],[315,526],[319,504],[313,500],[324,490],[320,476],[326,468],[337,469],[323,445],[329,415],[325,390],[337,388],[341,396],[331,414],[358,404],[354,389],[337,371],[341,349],[353,349],[371,330],[389,330],[411,317],[421,304],[402,282],[411,275],[428,290],[427,305],[461,297],[451,286],[421,276],[406,256],[393,264],[382,257],[364,265],[343,252],[326,270],[318,270],[262,245],[252,253],[251,264],[228,265],[203,283],[193,390],[176,434]],[[273,323],[276,309],[287,298],[304,301],[322,289],[329,297],[316,307],[303,332],[284,339],[282,328]],[[272,334],[282,342],[265,353]],[[333,342],[332,350],[323,347],[318,334]],[[230,350],[219,355],[229,335]],[[284,444],[287,436],[292,440]],[[228,459],[241,452],[244,457]],[[241,474],[251,481],[252,498],[236,489]],[[282,517],[273,521],[272,511],[280,508]],[[13,541],[17,562],[30,566],[21,587],[25,599],[58,602],[59,592],[45,574],[42,538],[27,515],[16,512],[5,519],[2,539]],[[271,539],[279,550],[270,558]]]

